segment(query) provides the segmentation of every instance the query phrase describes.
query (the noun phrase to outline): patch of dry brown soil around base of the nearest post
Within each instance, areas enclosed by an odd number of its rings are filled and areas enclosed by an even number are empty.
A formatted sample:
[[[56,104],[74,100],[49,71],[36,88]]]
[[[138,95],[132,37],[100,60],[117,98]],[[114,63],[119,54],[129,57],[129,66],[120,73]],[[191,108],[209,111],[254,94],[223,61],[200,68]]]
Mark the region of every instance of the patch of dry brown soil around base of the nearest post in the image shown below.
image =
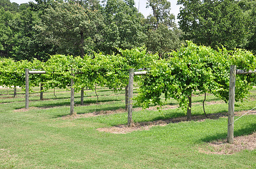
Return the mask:
[[[199,148],[199,152],[206,154],[234,154],[242,150],[256,149],[256,132],[247,136],[234,137],[234,143],[228,144],[227,139],[212,141],[206,148]]]

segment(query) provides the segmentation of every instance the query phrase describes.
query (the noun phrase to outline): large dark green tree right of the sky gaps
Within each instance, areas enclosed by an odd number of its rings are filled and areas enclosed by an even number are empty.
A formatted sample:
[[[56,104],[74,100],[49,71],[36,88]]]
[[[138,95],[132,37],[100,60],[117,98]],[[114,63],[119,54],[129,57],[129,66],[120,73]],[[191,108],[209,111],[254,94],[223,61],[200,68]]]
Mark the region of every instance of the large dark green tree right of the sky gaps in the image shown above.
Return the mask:
[[[245,47],[248,17],[234,0],[178,0],[183,7],[178,15],[185,39],[197,44]]]

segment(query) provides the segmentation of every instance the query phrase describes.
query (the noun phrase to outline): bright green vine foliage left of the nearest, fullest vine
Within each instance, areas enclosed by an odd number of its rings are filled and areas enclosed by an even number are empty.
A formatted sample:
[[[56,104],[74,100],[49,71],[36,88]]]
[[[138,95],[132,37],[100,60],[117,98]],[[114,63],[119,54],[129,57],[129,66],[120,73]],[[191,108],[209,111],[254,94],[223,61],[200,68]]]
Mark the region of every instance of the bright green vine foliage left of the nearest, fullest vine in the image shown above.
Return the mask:
[[[120,50],[118,55],[93,54],[93,56],[74,57],[53,55],[48,61],[11,59],[0,61],[0,86],[25,87],[25,68],[29,70],[45,70],[46,74],[29,76],[29,87],[42,84],[45,90],[53,88],[69,88],[70,79],[74,78],[75,91],[84,87],[93,89],[97,86],[122,88],[128,84],[130,68],[149,67],[157,55],[148,54],[146,49],[135,48]],[[71,77],[71,69],[75,76]]]

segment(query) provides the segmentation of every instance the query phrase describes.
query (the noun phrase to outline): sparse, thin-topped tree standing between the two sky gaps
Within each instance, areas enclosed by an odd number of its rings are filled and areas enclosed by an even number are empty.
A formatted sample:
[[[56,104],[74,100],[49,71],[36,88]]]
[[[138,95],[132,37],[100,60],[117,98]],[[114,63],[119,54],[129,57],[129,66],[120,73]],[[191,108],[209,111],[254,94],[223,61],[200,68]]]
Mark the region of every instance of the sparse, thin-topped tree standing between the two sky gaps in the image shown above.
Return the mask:
[[[167,52],[181,47],[182,32],[174,23],[174,15],[170,14],[170,2],[148,0],[147,8],[151,8],[153,15],[147,17],[147,41],[149,51],[158,53],[160,58],[167,56]]]

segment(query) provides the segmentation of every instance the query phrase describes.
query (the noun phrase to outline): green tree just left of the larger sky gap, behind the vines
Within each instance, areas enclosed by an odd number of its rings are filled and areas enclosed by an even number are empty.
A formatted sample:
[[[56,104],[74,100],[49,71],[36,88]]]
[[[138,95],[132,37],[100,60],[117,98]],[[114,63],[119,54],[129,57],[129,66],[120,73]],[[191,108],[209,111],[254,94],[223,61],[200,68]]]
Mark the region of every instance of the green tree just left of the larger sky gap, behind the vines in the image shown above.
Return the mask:
[[[108,0],[103,14],[105,27],[101,51],[111,54],[117,52],[117,48],[124,50],[143,46],[146,39],[143,16],[138,14],[134,1]]]

